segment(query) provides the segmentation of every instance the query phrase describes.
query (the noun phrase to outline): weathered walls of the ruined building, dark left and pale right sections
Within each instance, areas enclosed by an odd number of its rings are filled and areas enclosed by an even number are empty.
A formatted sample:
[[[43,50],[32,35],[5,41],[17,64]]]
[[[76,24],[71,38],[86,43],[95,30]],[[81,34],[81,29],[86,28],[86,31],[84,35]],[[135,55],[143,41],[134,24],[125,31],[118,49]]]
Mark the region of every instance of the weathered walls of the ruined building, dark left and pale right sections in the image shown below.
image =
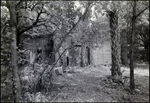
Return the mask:
[[[66,39],[66,41],[62,44],[59,53],[56,53],[55,56],[53,55],[52,60],[50,61],[50,54],[53,51],[52,45],[54,45],[54,43],[55,42],[52,42],[52,40],[49,37],[36,37],[32,39],[26,38],[24,39],[23,47],[24,49],[32,51],[33,55],[35,55],[34,62],[36,62],[37,49],[41,48],[42,60],[47,60],[49,64],[52,64],[59,58],[59,55],[66,48],[75,45],[75,43],[72,43],[71,38]],[[87,44],[83,45],[83,47],[81,44],[76,45],[72,49],[66,50],[66,52],[62,55],[61,59],[58,61],[57,66],[82,66],[81,62],[83,62],[83,66],[111,64],[110,39],[104,41],[99,45],[100,46],[96,48],[90,47]]]

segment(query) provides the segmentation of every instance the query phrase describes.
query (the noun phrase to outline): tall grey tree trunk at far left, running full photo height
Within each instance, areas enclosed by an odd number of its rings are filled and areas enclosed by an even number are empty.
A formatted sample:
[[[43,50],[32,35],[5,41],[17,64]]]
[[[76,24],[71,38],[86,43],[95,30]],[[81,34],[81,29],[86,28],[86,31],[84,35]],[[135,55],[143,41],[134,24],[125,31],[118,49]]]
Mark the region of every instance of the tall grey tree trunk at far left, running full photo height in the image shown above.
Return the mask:
[[[16,20],[16,10],[15,10],[15,3],[16,1],[6,1],[7,7],[9,9],[10,13],[10,31],[12,33],[12,43],[11,43],[11,65],[13,67],[13,74],[14,74],[14,84],[15,84],[15,89],[16,92],[14,101],[19,102],[20,97],[21,97],[21,86],[20,86],[20,79],[18,75],[18,66],[17,66],[17,40],[16,40],[16,25],[17,25],[17,20]],[[14,90],[15,90],[14,89]]]

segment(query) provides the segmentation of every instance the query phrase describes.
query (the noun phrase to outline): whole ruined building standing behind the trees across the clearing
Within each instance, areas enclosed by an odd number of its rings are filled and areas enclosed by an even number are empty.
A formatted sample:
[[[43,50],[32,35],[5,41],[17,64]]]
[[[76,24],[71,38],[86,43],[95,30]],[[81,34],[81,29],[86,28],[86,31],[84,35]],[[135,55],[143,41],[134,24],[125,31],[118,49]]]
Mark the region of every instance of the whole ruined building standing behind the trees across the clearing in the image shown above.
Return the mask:
[[[51,35],[26,35],[23,37],[24,49],[30,50],[30,63],[37,63],[38,49],[41,49],[42,62],[53,64],[58,59],[57,66],[88,66],[111,63],[110,42],[91,47],[87,44],[76,44],[72,36],[66,38],[58,52],[55,53],[59,42]],[[69,49],[67,49],[69,48]],[[61,57],[60,57],[61,55]]]

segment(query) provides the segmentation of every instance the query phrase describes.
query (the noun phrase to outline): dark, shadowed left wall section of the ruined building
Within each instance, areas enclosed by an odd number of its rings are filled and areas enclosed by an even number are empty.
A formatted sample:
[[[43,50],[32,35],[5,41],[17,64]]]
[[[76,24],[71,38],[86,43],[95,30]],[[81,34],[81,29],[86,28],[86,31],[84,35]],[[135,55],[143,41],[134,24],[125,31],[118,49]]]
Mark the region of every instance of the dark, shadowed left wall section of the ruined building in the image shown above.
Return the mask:
[[[23,48],[30,50],[33,55],[35,55],[34,62],[37,58],[37,49],[41,48],[41,56],[43,61],[48,61],[49,63],[54,62],[54,56],[52,56],[52,60],[50,61],[50,55],[53,52],[53,41],[48,37],[36,37],[32,39],[25,38],[23,41]],[[30,56],[30,58],[32,58]]]

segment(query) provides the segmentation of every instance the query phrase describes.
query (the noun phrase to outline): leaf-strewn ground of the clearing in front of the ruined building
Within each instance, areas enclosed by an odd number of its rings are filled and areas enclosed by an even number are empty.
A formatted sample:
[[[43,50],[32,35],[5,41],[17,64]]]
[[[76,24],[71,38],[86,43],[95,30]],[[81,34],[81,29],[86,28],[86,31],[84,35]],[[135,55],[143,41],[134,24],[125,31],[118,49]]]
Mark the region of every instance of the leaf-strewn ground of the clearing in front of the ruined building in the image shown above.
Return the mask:
[[[122,67],[124,85],[109,78],[110,66],[73,67],[70,72],[54,76],[48,91],[26,92],[32,102],[149,102],[149,64],[136,64],[135,91],[129,90],[128,67]]]

